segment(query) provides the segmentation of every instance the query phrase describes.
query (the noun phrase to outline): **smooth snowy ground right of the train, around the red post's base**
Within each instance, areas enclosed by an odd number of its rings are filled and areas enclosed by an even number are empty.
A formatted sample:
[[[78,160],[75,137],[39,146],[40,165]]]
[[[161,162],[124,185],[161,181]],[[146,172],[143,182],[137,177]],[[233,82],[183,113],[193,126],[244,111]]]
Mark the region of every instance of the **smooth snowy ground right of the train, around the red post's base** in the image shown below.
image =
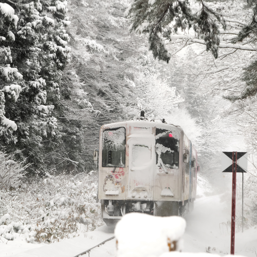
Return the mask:
[[[195,209],[185,217],[187,221],[184,252],[211,252],[230,254],[230,228],[225,223],[231,220],[230,195],[201,197],[195,201]],[[230,198],[231,199],[231,198]],[[256,257],[257,227],[235,234],[235,254]]]

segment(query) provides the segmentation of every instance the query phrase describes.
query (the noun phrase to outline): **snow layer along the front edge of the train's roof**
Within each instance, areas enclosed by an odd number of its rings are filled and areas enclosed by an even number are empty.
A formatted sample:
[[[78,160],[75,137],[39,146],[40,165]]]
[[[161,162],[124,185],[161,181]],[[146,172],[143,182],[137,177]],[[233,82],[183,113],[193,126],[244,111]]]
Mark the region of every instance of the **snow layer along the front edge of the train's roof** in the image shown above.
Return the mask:
[[[179,139],[180,133],[183,132],[183,129],[180,126],[173,124],[162,123],[161,121],[146,121],[146,120],[137,120],[137,121],[123,121],[115,122],[110,124],[105,124],[101,128],[117,128],[117,127],[142,127],[142,128],[153,128],[157,127],[164,130],[172,130],[172,136],[176,139]]]

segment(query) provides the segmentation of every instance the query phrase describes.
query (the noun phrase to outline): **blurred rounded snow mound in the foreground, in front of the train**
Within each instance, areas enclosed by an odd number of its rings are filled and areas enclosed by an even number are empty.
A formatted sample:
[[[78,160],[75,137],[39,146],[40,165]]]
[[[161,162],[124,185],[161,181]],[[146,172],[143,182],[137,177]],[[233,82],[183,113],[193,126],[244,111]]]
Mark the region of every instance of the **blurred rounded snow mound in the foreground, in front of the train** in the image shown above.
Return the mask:
[[[178,216],[158,217],[148,214],[126,214],[116,225],[117,257],[160,256],[170,250],[181,251],[186,228]]]

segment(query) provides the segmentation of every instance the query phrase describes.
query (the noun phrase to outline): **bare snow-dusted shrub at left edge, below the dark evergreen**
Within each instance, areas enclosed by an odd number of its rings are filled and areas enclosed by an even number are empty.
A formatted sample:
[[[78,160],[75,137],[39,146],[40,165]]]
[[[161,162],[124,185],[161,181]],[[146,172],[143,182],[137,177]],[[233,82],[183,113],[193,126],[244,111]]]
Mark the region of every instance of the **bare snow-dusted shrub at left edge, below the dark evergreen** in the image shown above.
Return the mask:
[[[10,160],[5,153],[0,152],[0,190],[17,188],[25,169],[26,166],[22,168],[21,163]]]

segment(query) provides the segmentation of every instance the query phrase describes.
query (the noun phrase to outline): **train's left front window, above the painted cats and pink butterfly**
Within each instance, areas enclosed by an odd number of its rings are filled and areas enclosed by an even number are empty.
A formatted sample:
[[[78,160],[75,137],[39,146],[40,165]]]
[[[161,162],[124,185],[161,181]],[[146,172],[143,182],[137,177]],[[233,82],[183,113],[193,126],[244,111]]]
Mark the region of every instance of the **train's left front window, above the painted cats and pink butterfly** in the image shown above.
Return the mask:
[[[103,131],[102,167],[125,167],[126,131],[124,127]]]

